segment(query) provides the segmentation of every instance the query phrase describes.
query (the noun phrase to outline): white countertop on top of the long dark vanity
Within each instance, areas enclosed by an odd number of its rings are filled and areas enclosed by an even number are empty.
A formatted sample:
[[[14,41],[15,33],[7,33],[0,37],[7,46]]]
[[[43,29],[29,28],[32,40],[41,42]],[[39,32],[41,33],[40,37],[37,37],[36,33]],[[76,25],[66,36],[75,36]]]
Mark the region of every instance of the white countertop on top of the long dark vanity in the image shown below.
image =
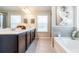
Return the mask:
[[[11,29],[1,29],[0,30],[0,35],[8,35],[8,34],[20,34],[20,33],[23,33],[23,32],[27,32],[27,31],[30,31],[34,28],[29,28],[29,29],[26,29],[26,30],[11,30]]]

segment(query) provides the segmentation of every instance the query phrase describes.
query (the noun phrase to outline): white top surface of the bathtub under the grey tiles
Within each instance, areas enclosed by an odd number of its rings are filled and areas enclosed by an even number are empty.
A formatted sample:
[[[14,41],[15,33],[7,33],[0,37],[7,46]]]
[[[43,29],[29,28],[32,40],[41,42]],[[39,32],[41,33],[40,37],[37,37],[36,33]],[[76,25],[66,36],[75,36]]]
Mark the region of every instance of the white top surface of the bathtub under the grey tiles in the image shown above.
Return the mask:
[[[55,37],[55,40],[68,53],[79,53],[79,40],[73,40],[71,37]]]

